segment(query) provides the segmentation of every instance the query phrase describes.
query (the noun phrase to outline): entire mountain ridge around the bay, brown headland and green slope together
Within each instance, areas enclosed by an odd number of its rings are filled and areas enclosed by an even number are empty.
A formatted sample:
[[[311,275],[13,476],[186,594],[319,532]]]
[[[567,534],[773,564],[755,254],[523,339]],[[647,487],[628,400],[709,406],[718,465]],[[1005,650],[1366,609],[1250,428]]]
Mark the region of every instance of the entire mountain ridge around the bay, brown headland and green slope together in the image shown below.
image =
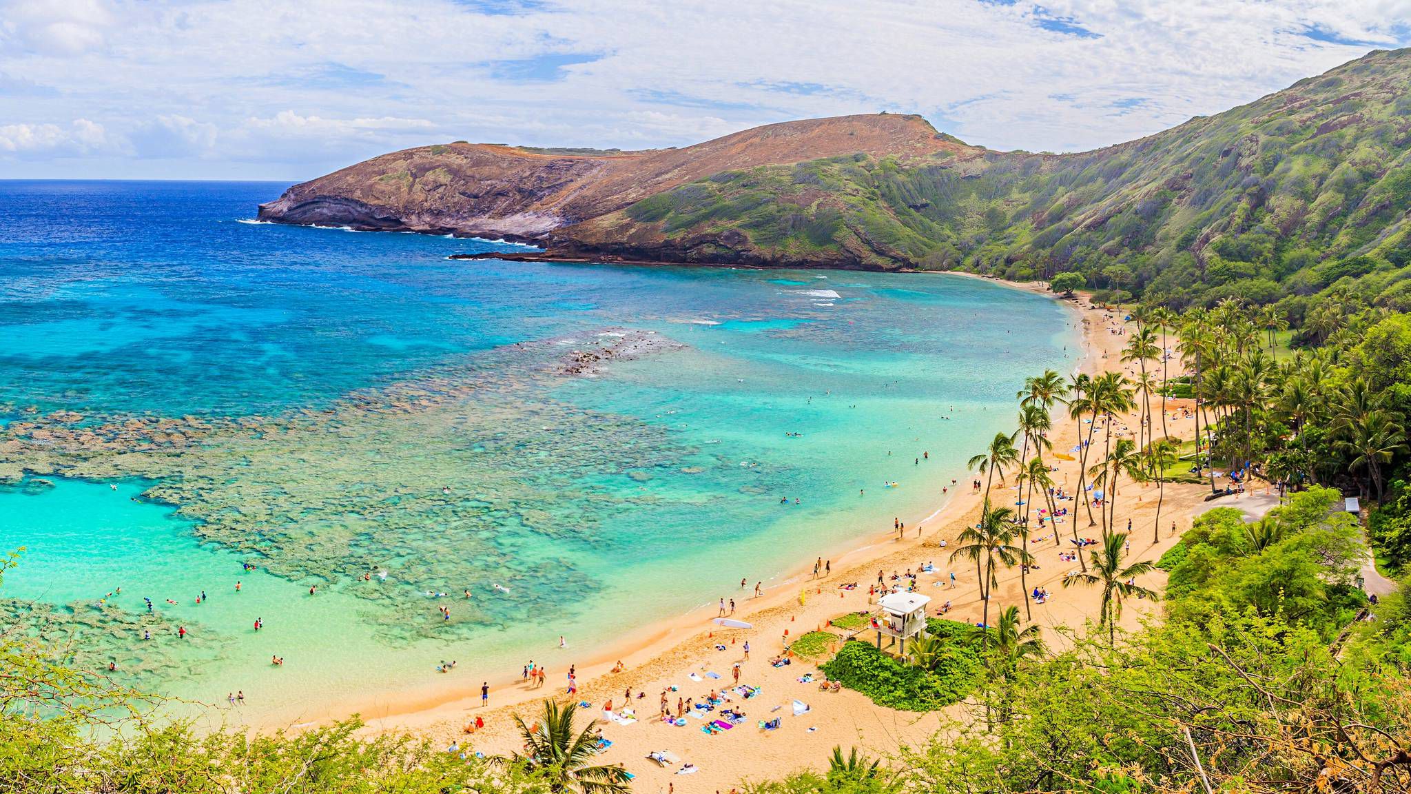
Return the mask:
[[[1411,49],[1079,154],[998,153],[917,116],[745,130],[682,150],[450,144],[296,185],[261,218],[516,235],[549,257],[1081,271],[1173,305],[1343,277],[1411,308]],[[1364,287],[1371,288],[1371,287]]]

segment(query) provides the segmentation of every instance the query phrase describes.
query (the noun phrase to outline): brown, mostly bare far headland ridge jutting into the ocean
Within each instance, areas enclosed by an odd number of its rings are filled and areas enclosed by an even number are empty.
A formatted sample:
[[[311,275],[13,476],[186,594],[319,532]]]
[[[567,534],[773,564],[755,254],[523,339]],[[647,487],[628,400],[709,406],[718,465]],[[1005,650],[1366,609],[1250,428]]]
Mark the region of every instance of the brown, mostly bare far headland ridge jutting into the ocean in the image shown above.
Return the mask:
[[[926,158],[979,150],[920,116],[841,116],[755,127],[686,148],[536,150],[453,143],[384,154],[295,185],[260,218],[360,229],[542,235],[722,171],[865,153]]]

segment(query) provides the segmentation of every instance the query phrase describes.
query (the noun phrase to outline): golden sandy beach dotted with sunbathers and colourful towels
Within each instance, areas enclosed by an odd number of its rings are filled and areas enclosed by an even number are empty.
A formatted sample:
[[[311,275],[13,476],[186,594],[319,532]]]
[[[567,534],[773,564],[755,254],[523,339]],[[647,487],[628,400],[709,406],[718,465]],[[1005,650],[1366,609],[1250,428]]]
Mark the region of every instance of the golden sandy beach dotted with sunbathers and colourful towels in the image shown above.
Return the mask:
[[[1016,287],[1041,291],[1037,285]],[[1081,369],[1089,374],[1110,369],[1123,369],[1132,374],[1130,367],[1120,363],[1120,349],[1127,340],[1127,336],[1119,333],[1120,318],[1091,307],[1085,300],[1074,301],[1071,307],[1082,324],[1085,350]],[[1170,366],[1174,374],[1175,362],[1173,360]],[[1188,407],[1188,401],[1168,400],[1165,427],[1173,437],[1191,438],[1194,420],[1182,418],[1184,407]],[[1160,404],[1156,400],[1153,400],[1153,420],[1160,421]],[[1134,437],[1139,424],[1136,415],[1119,417],[1115,421],[1113,435]],[[1077,422],[1065,415],[1055,417],[1055,428],[1050,434],[1054,451],[1071,449],[1078,442],[1078,432]],[[1099,431],[1095,444],[1101,437]],[[1053,472],[1054,480],[1070,489],[1075,486],[1078,462],[1054,462],[1058,465],[1058,470]],[[573,648],[547,648],[542,657],[533,660],[547,671],[542,688],[521,681],[518,672],[490,674],[466,670],[457,671],[464,688],[463,694],[456,697],[420,701],[368,699],[363,704],[346,704],[347,712],[360,712],[368,721],[368,730],[411,730],[430,735],[446,746],[456,742],[463,749],[485,754],[509,753],[518,749],[521,742],[512,716],[521,715],[532,722],[543,698],[566,697],[567,672],[573,665],[579,684],[579,692],[573,699],[591,704],[591,708],[583,709],[584,718],[601,718],[608,702],[621,711],[631,694],[631,706],[641,719],[631,725],[600,721],[605,737],[612,742],[601,760],[622,763],[636,776],[634,787],[638,791],[666,791],[669,784],[680,791],[728,790],[742,780],[762,780],[800,767],[823,766],[834,745],[841,745],[844,749],[856,746],[873,754],[885,754],[895,752],[899,745],[923,742],[935,730],[940,722],[938,713],[907,713],[879,708],[861,694],[848,689],[838,694],[820,692],[816,684],[797,681],[810,671],[816,677],[820,675],[807,661],[794,660],[794,664],[775,668],[768,660],[780,653],[787,637],[823,627],[840,615],[869,609],[869,603],[875,599],[869,596],[868,588],[876,582],[879,572],[890,576],[893,572],[919,571],[926,562],[934,564],[935,572],[921,575],[919,589],[931,596],[931,606],[940,608],[950,600],[952,609],[947,617],[979,622],[983,603],[979,599],[974,568],[967,568],[967,564],[959,561],[952,565],[950,552],[954,548],[954,538],[978,519],[981,494],[969,487],[972,478],[968,472],[957,470],[951,476],[957,479],[957,486],[945,494],[943,507],[930,516],[902,517],[907,527],[900,533],[903,537],[899,537],[899,533],[885,533],[858,538],[849,550],[831,550],[831,557],[827,554],[828,550],[800,550],[797,572],[761,596],[753,596],[752,582],[735,592],[721,593],[725,599],[735,599],[735,612],[731,617],[751,623],[752,629],[722,630],[713,623],[718,610],[711,605],[676,620],[645,627],[634,636],[624,637],[615,650],[598,654],[595,658],[579,657]],[[1153,543],[1157,487],[1123,482],[1118,494],[1116,523],[1119,528],[1125,528],[1125,523],[1132,521],[1129,559],[1154,561],[1175,541],[1173,524],[1178,534],[1189,527],[1194,514],[1215,504],[1240,503],[1239,499],[1228,497],[1208,504],[1204,502],[1206,494],[1208,489],[1199,485],[1167,485],[1161,506],[1161,527],[1156,530],[1157,543]],[[993,497],[996,502],[1017,499],[1012,483],[1002,485],[998,479]],[[1254,500],[1252,496],[1243,497],[1246,503]],[[1260,509],[1266,507],[1264,500],[1259,502]],[[1078,534],[1096,537],[1101,526],[1088,527],[1086,511],[1077,503],[1068,504],[1070,520],[1078,521]],[[1065,523],[1060,530],[1071,533],[1070,527],[1071,524]],[[1038,533],[1038,535],[1030,541],[1030,551],[1038,559],[1038,565],[1029,572],[1027,585],[1030,589],[1046,588],[1051,598],[1047,603],[1031,606],[1033,622],[1044,627],[1046,640],[1058,643],[1061,640],[1057,627],[1082,629],[1084,623],[1096,615],[1099,593],[1086,588],[1064,589],[1064,575],[1078,565],[1060,561],[1058,555],[1072,544],[1055,544],[1051,534],[1044,537],[1044,533]],[[943,548],[943,543],[947,547]],[[820,555],[827,561],[830,572],[814,578],[813,562]],[[950,585],[951,572],[955,574],[954,589]],[[1158,588],[1164,583],[1163,576],[1158,572],[1146,583]],[[840,585],[849,582],[856,582],[858,588],[840,589]],[[1006,605],[1023,606],[1017,569],[1000,574],[1000,585],[991,608],[992,616]],[[1122,623],[1133,626],[1151,609],[1153,605],[1149,602],[1129,605]],[[748,658],[744,653],[746,641]],[[718,646],[724,646],[725,650],[718,650]],[[625,670],[614,672],[612,667],[618,661]],[[713,689],[718,691],[729,684],[732,667],[737,664],[741,667],[741,684],[761,688],[758,697],[749,701],[734,698],[731,704],[745,711],[749,718],[746,723],[724,733],[708,735],[693,721],[687,721],[689,725],[684,728],[677,728],[656,719],[663,691],[674,709],[677,698],[701,699]],[[711,672],[720,678],[708,677]],[[488,681],[491,688],[490,705],[485,708],[480,704],[483,681]],[[792,708],[796,699],[809,704],[810,711],[796,716]],[[958,715],[961,708],[952,706],[948,715]],[[466,735],[464,726],[477,716],[484,721],[485,728],[474,736]],[[783,718],[779,730],[762,732],[755,728],[758,719],[773,716]],[[674,753],[683,762],[694,764],[698,771],[682,776],[674,774],[674,769],[662,769],[646,759],[646,754],[655,750]]]

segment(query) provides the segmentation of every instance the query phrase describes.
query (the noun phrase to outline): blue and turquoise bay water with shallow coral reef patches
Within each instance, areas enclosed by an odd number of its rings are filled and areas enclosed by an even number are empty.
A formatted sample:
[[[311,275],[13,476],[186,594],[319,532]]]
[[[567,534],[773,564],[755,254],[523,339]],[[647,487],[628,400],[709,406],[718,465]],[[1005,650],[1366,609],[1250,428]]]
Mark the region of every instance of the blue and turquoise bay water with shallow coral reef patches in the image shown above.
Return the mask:
[[[1055,302],[972,278],[240,222],[279,189],[0,182],[0,596],[244,719],[566,667],[914,524],[1077,353]]]

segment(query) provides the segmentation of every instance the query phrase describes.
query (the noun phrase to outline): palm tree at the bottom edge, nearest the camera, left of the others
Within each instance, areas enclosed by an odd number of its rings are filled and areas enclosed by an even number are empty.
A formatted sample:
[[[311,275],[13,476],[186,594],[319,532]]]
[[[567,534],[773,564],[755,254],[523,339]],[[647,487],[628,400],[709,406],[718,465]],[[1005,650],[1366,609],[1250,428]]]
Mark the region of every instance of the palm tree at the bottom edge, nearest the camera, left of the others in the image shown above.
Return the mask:
[[[543,773],[550,791],[577,794],[628,791],[628,781],[632,778],[622,764],[590,766],[598,752],[594,732],[598,721],[590,719],[583,730],[574,732],[573,718],[577,708],[574,702],[545,701],[542,722],[533,728],[525,725],[516,715],[515,725],[525,740],[523,752],[509,757],[497,756],[492,760]]]

